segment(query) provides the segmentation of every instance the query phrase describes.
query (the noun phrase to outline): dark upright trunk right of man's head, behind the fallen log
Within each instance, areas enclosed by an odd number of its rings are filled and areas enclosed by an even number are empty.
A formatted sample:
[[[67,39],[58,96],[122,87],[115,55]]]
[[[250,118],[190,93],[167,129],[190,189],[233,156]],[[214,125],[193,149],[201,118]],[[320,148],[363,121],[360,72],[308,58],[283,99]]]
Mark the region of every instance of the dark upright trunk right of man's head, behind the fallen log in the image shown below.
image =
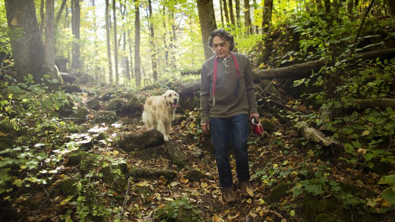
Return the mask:
[[[262,55],[261,62],[267,62],[271,52],[271,23],[272,23],[273,0],[265,0],[263,4],[263,20],[262,20]]]

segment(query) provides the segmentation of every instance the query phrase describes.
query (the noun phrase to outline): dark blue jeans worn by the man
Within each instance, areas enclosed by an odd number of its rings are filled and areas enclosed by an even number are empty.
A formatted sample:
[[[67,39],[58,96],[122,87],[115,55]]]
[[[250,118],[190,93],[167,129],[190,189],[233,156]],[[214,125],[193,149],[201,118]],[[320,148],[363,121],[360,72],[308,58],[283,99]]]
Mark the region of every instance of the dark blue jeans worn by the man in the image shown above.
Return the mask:
[[[220,186],[231,187],[232,172],[229,163],[229,142],[235,149],[237,179],[240,182],[249,180],[247,137],[247,114],[228,118],[210,118],[211,140],[214,146],[214,156],[217,161]]]

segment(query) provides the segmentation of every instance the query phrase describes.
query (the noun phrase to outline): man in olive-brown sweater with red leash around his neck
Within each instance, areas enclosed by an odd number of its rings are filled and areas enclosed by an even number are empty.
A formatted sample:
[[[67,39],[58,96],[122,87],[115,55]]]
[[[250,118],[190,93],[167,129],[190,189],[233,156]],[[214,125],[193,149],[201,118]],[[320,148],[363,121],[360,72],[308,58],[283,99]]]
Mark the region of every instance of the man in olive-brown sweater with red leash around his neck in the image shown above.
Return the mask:
[[[236,202],[232,188],[233,179],[228,157],[228,143],[236,154],[236,171],[241,193],[254,196],[249,184],[248,169],[248,119],[259,119],[257,99],[248,57],[231,52],[233,36],[224,29],[211,32],[209,46],[216,54],[206,60],[201,73],[201,126],[210,131],[214,146],[222,198],[228,204]],[[214,77],[215,76],[215,77]],[[213,81],[216,79],[216,81]],[[249,118],[248,118],[249,110]]]

